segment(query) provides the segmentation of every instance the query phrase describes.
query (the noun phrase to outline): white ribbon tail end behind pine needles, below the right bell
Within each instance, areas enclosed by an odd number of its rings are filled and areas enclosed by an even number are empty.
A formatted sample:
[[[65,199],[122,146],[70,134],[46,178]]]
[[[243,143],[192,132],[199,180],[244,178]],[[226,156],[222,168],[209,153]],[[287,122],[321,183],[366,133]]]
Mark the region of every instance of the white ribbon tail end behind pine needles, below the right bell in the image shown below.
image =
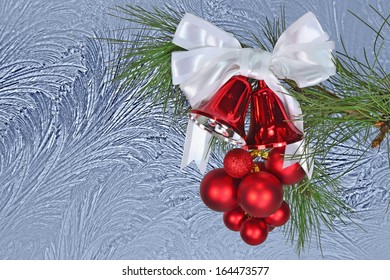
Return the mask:
[[[313,177],[314,156],[310,153],[309,148],[305,147],[304,140],[286,145],[284,153],[291,156],[284,158],[283,168],[299,163],[307,177],[309,179]]]

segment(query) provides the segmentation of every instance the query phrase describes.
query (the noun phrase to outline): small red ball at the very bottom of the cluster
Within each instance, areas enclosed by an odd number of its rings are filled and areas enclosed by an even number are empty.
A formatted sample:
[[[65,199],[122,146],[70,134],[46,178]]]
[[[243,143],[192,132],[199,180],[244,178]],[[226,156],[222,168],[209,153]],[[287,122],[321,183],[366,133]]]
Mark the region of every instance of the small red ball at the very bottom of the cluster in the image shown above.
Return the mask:
[[[262,219],[248,218],[242,222],[240,235],[245,243],[259,245],[267,239],[268,226]]]

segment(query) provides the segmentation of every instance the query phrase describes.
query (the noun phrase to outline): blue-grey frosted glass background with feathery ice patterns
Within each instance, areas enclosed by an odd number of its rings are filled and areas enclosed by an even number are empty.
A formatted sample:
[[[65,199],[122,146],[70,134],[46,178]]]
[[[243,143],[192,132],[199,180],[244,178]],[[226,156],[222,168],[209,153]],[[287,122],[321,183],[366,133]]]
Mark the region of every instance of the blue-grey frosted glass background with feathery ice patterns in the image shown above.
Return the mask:
[[[199,197],[195,165],[179,169],[186,120],[164,122],[160,107],[106,83],[116,49],[92,38],[131,27],[108,16],[109,7],[145,2],[0,0],[0,259],[390,259],[383,148],[344,180],[342,195],[363,229],[323,228],[323,254],[312,242],[298,257],[280,229],[250,247],[223,226]],[[359,57],[374,36],[348,9],[374,26],[369,4],[390,11],[387,0],[154,2],[237,34],[279,15],[281,5],[288,23],[313,11],[338,48],[343,36]],[[382,54],[389,71],[389,44]],[[329,159],[335,174],[348,165],[347,148]],[[208,168],[222,158],[214,154]]]

